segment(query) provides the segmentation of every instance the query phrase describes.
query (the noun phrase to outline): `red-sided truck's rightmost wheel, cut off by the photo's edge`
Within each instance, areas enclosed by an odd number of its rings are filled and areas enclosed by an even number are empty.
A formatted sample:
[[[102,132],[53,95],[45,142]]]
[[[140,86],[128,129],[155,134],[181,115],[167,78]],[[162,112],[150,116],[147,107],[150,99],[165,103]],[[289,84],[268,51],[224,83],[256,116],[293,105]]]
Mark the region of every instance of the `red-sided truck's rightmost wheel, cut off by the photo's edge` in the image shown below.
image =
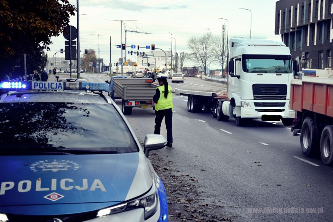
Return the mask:
[[[324,127],[320,137],[320,154],[323,163],[333,164],[333,126]]]

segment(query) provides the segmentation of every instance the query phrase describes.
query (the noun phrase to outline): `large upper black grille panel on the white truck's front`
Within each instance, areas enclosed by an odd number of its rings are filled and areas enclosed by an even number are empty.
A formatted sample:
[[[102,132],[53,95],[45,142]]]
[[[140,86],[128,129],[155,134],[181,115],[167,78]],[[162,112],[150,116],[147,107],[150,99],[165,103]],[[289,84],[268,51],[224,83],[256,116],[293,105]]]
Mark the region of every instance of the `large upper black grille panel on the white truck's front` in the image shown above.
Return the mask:
[[[254,100],[286,100],[286,84],[253,84]]]

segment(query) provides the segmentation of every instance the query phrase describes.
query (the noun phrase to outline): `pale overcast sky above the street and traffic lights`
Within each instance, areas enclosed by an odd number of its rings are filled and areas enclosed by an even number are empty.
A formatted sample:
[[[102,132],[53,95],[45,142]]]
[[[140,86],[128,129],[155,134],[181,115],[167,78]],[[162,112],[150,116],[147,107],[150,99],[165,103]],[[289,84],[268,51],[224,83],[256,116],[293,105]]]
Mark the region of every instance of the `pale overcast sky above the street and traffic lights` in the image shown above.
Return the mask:
[[[70,0],[76,5],[76,0]],[[200,36],[206,32],[221,35],[222,24],[229,20],[229,39],[231,37],[250,36],[250,12],[240,10],[247,8],[252,11],[252,38],[281,40],[274,34],[276,0],[80,0],[80,49],[95,49],[98,57],[98,36],[100,34],[100,58],[106,65],[110,60],[110,36],[112,63],[121,57],[121,50],[116,45],[121,44],[121,22],[114,20],[139,20],[125,22],[128,30],[137,30],[149,34],[127,32],[127,45],[146,46],[155,44],[157,48],[169,50],[172,33],[176,39],[177,52],[189,52],[187,39],[190,36]],[[77,27],[77,17],[70,18],[71,25]],[[140,30],[141,29],[141,30]],[[64,37],[52,37],[49,58],[64,48]],[[123,30],[123,43],[125,31]],[[173,40],[173,51],[174,40]],[[144,50],[140,50],[144,51]],[[57,57],[64,57],[57,53]],[[135,56],[127,55],[127,59],[136,60]]]

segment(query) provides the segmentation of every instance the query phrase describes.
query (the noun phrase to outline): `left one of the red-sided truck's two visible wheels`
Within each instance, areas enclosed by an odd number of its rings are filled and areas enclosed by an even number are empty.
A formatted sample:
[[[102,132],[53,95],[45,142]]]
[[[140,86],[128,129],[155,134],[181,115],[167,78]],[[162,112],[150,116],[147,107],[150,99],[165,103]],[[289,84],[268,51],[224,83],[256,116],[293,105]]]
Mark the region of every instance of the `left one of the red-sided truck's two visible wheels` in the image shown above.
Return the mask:
[[[301,129],[301,148],[304,156],[312,156],[317,147],[317,133],[311,117],[306,117],[302,123]]]

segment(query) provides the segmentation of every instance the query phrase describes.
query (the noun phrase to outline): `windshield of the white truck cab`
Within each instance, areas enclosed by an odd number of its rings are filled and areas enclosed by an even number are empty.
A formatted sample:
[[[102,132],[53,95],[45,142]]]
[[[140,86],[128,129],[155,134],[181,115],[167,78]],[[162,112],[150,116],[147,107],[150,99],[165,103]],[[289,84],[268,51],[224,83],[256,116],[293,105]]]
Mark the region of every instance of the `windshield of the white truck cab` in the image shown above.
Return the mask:
[[[292,73],[291,56],[243,55],[246,73]]]

